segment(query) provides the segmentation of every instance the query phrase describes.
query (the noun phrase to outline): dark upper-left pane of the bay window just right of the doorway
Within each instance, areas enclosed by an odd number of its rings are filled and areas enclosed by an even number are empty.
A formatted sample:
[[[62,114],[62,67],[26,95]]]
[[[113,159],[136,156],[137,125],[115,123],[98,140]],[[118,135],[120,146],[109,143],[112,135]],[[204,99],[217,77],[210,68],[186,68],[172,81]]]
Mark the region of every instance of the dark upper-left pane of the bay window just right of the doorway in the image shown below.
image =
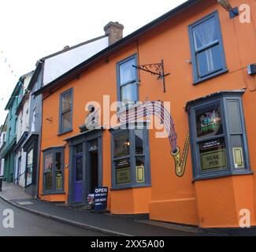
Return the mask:
[[[129,132],[113,137],[113,158],[121,158],[130,154]]]

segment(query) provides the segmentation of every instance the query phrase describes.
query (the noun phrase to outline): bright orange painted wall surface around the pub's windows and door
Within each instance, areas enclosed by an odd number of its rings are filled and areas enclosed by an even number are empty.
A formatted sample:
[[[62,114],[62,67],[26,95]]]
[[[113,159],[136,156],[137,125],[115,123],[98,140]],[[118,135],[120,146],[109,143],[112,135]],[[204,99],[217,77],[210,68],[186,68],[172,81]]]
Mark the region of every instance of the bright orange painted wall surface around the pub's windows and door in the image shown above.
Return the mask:
[[[247,88],[243,96],[247,137],[250,150],[250,167],[256,165],[256,99],[254,92],[256,79],[247,75],[247,65],[256,62],[256,2],[253,0],[233,0],[232,6],[247,3],[251,6],[252,22],[240,24],[239,18],[230,20],[229,15],[215,0],[203,1],[182,14],[166,21],[115,54],[108,61],[102,61],[88,69],[77,80],[61,87],[43,100],[43,139],[42,150],[50,146],[63,146],[66,139],[79,133],[83,124],[87,102],[102,104],[102,96],[109,95],[110,102],[117,100],[116,64],[132,54],[138,53],[139,64],[165,60],[167,92],[163,93],[162,83],[156,77],[140,72],[139,99],[147,97],[154,100],[171,102],[171,113],[178,134],[178,146],[182,149],[188,133],[186,102],[217,91]],[[224,42],[224,53],[228,73],[206,80],[194,86],[187,26],[196,20],[218,10]],[[73,88],[73,132],[58,136],[59,95]],[[51,117],[50,123],[46,118]],[[65,162],[69,163],[68,146],[65,148]],[[186,172],[178,178],[174,171],[168,139],[156,139],[155,130],[150,131],[150,169],[151,188],[110,191],[109,210],[111,213],[150,213],[150,218],[183,224],[200,225],[203,228],[237,227],[239,209],[250,209],[252,224],[255,223],[255,175],[236,176],[222,179],[205,180],[192,183],[191,154],[187,158]],[[103,135],[103,183],[111,187],[111,150],[110,133]],[[41,158],[42,159],[42,158]],[[41,160],[42,164],[42,160]],[[40,191],[42,193],[42,165]],[[68,193],[68,169],[65,169],[65,191]],[[54,197],[46,200],[54,200]],[[60,196],[58,196],[58,199]],[[62,196],[67,200],[67,196]]]

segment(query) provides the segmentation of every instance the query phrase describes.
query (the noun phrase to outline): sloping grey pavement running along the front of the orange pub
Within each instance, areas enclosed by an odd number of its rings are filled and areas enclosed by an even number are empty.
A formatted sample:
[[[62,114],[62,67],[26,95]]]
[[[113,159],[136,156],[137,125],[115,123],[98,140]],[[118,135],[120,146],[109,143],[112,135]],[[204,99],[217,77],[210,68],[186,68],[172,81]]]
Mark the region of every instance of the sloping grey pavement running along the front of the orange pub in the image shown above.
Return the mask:
[[[205,231],[200,228],[150,221],[147,216],[115,216],[110,213],[65,206],[54,202],[43,202],[26,195],[24,190],[12,183],[3,183],[0,198],[13,207],[87,231],[111,236],[212,236],[236,235],[237,232]],[[256,232],[255,232],[256,234]],[[1,234],[0,234],[1,235]]]

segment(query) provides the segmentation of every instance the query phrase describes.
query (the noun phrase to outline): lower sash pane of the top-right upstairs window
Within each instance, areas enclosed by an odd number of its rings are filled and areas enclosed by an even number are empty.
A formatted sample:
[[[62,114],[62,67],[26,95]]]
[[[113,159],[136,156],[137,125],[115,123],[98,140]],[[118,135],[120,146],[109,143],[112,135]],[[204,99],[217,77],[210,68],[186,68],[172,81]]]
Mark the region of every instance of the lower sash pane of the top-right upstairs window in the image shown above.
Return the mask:
[[[220,45],[213,46],[197,54],[198,76],[207,76],[222,69]]]

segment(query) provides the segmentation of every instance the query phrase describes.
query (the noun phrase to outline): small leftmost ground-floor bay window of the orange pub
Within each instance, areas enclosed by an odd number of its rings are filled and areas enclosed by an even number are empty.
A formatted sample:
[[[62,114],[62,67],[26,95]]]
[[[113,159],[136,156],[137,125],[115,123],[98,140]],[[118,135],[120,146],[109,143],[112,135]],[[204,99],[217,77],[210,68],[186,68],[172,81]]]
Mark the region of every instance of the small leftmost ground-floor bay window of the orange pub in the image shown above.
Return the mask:
[[[64,190],[64,148],[52,148],[43,152],[43,188],[47,193]]]

